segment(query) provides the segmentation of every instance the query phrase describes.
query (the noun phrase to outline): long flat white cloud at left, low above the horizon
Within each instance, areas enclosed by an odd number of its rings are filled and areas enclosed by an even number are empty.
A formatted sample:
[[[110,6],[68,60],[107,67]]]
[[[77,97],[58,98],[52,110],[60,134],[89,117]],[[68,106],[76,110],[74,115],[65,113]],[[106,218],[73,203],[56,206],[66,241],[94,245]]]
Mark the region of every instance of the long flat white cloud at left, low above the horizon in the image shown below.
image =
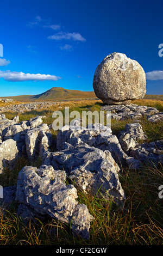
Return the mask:
[[[15,71],[1,71],[0,78],[4,78],[5,81],[21,82],[21,81],[57,81],[61,79],[59,76],[42,75],[42,74],[24,74],[23,72]]]

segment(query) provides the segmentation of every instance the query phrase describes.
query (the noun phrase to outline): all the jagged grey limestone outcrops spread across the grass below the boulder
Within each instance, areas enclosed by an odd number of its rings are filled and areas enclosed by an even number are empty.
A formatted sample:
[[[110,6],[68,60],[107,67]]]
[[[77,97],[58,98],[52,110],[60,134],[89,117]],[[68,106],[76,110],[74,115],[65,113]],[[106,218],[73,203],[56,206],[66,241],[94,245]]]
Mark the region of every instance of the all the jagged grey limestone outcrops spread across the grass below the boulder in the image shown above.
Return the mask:
[[[113,119],[131,117],[133,123],[115,136],[101,124],[94,124],[93,129],[80,127],[78,120],[73,126],[62,127],[55,141],[51,126],[43,123],[45,117],[20,122],[18,115],[9,120],[1,114],[0,172],[4,168],[12,170],[18,157],[42,159],[40,168],[22,168],[17,186],[4,188],[3,209],[16,200],[17,215],[22,220],[35,221],[35,217],[49,215],[71,223],[74,234],[89,239],[93,216],[86,205],[77,202],[78,190],[108,201],[111,197],[118,206],[123,206],[125,191],[118,177],[122,168],[140,169],[144,163],[163,163],[163,141],[146,143],[147,136],[139,123],[142,116],[152,122],[161,121],[163,113],[133,104],[104,109],[112,112]],[[66,180],[70,185],[66,185]]]

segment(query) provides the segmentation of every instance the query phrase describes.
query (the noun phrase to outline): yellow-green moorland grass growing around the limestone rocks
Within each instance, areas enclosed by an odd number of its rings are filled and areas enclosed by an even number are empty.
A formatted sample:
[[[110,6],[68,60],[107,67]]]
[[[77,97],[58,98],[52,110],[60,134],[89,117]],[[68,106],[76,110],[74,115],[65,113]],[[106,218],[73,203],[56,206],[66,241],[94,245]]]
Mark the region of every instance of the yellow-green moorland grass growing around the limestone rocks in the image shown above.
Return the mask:
[[[156,107],[163,112],[163,101],[139,100],[133,103]],[[100,111],[102,102],[63,102],[46,110],[24,112],[20,114],[20,120],[46,115],[44,121],[50,125],[54,120],[52,113],[56,110],[64,113],[65,106],[69,106],[70,111],[76,110],[82,114],[82,111]],[[5,114],[7,118],[12,119],[17,113]],[[112,132],[117,135],[127,123],[133,121],[112,121]],[[152,124],[142,118],[141,125],[148,135],[147,142],[163,139],[162,122]],[[56,137],[57,132],[52,130],[52,133]],[[19,159],[12,171],[5,169],[0,175],[0,184],[3,187],[16,185],[18,172],[25,165],[39,167],[41,159],[36,159],[33,163],[27,159]],[[37,220],[36,223],[24,224],[16,215],[15,203],[10,205],[7,215],[0,214],[0,245],[162,245],[163,198],[159,198],[158,188],[163,185],[163,167],[160,164],[159,167],[143,166],[139,171],[123,169],[120,182],[126,194],[126,211],[118,209],[112,200],[106,202],[96,196],[78,193],[78,202],[86,204],[90,214],[95,217],[91,222],[89,240],[74,237],[69,225],[50,217],[45,221]]]

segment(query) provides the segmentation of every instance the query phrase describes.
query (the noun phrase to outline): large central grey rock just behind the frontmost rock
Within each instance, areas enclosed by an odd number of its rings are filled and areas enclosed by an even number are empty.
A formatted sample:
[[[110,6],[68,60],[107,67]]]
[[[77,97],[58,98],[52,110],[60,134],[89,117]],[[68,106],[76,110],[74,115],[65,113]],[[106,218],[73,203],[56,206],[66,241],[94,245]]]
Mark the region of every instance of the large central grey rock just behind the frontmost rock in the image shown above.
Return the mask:
[[[62,151],[43,155],[43,164],[65,170],[72,184],[84,193],[97,194],[122,204],[125,195],[118,179],[120,168],[108,150],[102,151],[87,144],[75,146],[65,143]]]

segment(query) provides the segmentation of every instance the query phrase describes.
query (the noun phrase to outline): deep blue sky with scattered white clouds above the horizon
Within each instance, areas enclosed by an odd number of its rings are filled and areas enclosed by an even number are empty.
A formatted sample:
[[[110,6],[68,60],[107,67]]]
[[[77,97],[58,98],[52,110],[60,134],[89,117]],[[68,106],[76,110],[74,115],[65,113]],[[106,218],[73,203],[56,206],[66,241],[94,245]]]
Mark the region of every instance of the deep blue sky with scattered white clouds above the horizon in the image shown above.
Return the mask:
[[[0,96],[92,91],[112,52],[142,65],[147,94],[163,94],[162,28],[162,0],[1,1]]]

